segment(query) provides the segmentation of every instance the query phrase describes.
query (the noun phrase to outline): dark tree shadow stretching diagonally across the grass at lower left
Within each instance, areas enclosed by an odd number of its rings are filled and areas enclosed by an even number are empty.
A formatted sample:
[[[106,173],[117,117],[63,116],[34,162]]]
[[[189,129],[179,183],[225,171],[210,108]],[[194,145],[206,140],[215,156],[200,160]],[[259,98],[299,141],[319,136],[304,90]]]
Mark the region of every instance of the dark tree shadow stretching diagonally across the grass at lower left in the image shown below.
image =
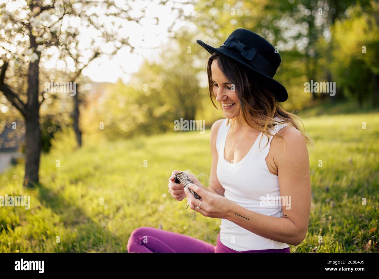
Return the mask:
[[[78,205],[43,184],[38,184],[35,189],[39,191],[42,205],[56,213],[64,227],[69,229],[68,239],[61,238],[57,252],[127,252],[126,240],[107,230],[106,222],[94,222]]]

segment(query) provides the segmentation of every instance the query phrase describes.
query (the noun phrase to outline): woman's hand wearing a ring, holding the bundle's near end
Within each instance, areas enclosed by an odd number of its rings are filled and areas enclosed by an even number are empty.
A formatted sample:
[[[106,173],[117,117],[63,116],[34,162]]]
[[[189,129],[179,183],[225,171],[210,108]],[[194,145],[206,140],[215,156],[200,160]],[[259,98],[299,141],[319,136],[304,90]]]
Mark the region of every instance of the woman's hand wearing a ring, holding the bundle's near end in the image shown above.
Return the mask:
[[[193,183],[187,184],[188,188],[196,192],[201,199],[196,199],[194,195],[185,187],[184,192],[187,196],[187,204],[191,209],[201,213],[203,216],[211,218],[226,218],[230,200],[221,195],[208,192]],[[195,208],[200,204],[200,208]]]

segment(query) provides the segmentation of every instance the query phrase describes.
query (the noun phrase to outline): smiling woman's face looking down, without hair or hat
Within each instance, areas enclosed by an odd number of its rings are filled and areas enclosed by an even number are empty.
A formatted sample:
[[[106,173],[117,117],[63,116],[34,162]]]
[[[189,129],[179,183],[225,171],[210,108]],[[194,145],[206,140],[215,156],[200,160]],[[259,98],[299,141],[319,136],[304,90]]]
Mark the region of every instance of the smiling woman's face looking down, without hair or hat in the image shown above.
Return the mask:
[[[216,101],[222,103],[222,110],[227,118],[234,118],[240,114],[237,94],[235,87],[232,87],[229,80],[218,67],[217,61],[213,60],[211,65],[212,80],[213,80],[213,95],[216,96]],[[232,106],[230,106],[232,105]]]

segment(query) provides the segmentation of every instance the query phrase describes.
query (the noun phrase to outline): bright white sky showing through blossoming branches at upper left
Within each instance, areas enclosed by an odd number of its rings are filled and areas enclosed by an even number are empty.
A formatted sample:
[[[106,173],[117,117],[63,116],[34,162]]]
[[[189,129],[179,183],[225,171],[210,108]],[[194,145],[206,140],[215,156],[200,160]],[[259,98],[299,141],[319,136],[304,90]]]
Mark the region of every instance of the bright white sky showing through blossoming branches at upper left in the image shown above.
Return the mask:
[[[115,3],[123,3],[125,0],[115,0]],[[186,0],[175,0],[176,3],[185,2]],[[0,3],[8,2],[7,9],[9,11],[14,11],[20,6],[25,5],[24,0],[0,0]],[[117,32],[124,38],[129,37],[129,43],[135,47],[133,54],[130,54],[129,47],[123,47],[119,50],[118,54],[112,59],[109,59],[107,55],[96,58],[96,60],[91,61],[91,63],[83,69],[82,74],[90,77],[96,82],[116,82],[117,79],[121,78],[124,83],[128,82],[130,79],[130,74],[138,71],[139,66],[143,62],[144,58],[150,61],[157,59],[157,55],[160,51],[160,47],[163,46],[169,39],[169,33],[167,29],[175,21],[175,25],[172,31],[178,30],[180,27],[185,26],[187,29],[196,29],[196,25],[189,22],[183,22],[183,20],[175,20],[176,16],[171,11],[172,1],[168,0],[166,5],[158,5],[161,0],[136,0],[134,2],[128,1],[127,3],[133,7],[135,13],[130,13],[133,17],[138,17],[140,9],[146,8],[144,18],[140,20],[140,25],[135,22],[128,22],[126,26],[123,25],[121,30]],[[180,4],[179,4],[180,5]],[[179,6],[175,4],[176,7]],[[192,5],[182,6],[184,14],[189,15],[193,11]],[[99,11],[97,11],[99,12]],[[100,11],[101,12],[101,11]],[[155,25],[157,20],[154,17],[158,17],[159,23]],[[70,21],[70,25],[75,26],[80,24],[80,22]],[[110,22],[105,22],[105,25]],[[63,22],[64,28],[65,22]],[[116,26],[117,26],[116,22]],[[141,26],[142,25],[142,26]],[[94,37],[94,33],[91,30],[85,30],[82,34],[80,43],[84,42],[84,46],[88,46],[87,42],[91,42]],[[144,41],[143,41],[144,39]],[[155,49],[147,49],[154,48]],[[106,46],[104,47],[106,50]],[[48,50],[53,53],[53,49]],[[90,53],[91,54],[91,53]],[[88,55],[90,56],[90,55]],[[41,66],[41,63],[40,63]],[[57,63],[57,60],[51,59],[42,65],[44,68],[50,69],[62,69],[66,68],[66,65],[62,63]],[[70,68],[70,65],[67,66]]]

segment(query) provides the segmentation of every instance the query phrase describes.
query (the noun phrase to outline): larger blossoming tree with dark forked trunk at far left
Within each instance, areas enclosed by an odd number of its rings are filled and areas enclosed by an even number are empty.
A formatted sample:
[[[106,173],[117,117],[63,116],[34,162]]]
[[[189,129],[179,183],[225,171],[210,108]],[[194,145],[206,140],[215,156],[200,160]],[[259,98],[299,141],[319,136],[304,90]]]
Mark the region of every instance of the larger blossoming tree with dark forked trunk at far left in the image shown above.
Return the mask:
[[[146,16],[146,7],[136,10],[133,3],[127,0],[14,0],[0,4],[0,91],[25,120],[24,186],[33,187],[39,182],[40,107],[49,98],[40,88],[40,64],[52,59],[63,63],[71,61],[74,69],[69,70],[66,81],[74,82],[93,59],[101,55],[112,57],[125,46],[133,51],[128,36],[132,28],[125,26],[141,24]],[[177,18],[183,16],[182,8],[174,4],[174,9],[179,11]],[[82,39],[86,32],[93,34],[90,41]]]

